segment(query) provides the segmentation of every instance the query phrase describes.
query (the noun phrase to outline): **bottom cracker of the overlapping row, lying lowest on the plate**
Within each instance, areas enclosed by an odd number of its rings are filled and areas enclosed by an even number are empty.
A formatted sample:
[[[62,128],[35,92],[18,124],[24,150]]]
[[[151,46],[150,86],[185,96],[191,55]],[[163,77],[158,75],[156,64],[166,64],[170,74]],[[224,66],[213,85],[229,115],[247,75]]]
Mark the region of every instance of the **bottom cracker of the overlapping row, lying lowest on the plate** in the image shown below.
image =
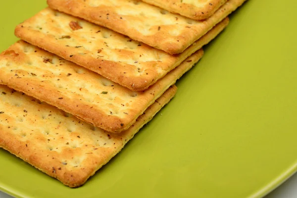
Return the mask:
[[[170,87],[120,134],[111,134],[0,85],[0,148],[69,187],[83,185],[176,93]]]

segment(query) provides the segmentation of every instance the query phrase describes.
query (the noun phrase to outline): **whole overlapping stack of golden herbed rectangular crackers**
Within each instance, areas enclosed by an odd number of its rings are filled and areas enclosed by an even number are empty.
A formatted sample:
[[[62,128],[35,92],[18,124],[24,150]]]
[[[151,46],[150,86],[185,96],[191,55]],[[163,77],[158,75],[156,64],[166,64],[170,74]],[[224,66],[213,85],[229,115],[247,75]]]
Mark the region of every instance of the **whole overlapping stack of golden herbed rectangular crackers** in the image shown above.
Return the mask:
[[[21,40],[0,54],[0,147],[83,185],[174,97],[245,0],[143,1],[48,0],[16,27]]]

